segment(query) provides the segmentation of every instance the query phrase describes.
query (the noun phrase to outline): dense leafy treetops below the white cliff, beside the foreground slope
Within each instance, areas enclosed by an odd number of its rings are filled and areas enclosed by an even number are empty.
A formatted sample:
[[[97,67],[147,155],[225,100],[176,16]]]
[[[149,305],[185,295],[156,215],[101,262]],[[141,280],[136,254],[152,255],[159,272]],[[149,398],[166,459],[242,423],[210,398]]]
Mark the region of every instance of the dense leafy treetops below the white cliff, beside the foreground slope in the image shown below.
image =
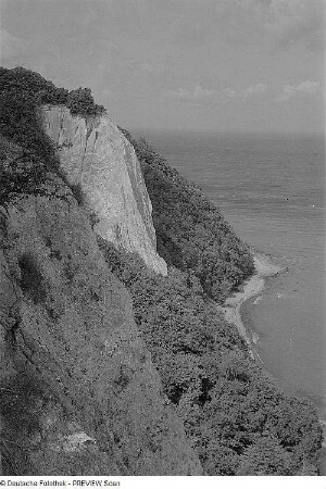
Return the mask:
[[[195,273],[163,278],[99,239],[134,300],[135,319],[209,475],[313,475],[322,428],[313,406],[279,391]]]

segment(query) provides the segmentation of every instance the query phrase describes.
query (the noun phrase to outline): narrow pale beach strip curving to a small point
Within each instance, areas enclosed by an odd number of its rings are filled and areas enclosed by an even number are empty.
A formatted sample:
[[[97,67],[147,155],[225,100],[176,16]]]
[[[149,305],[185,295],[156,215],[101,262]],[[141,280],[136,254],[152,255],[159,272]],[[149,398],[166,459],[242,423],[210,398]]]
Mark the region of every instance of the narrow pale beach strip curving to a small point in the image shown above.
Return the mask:
[[[280,266],[272,263],[271,259],[264,254],[255,253],[253,256],[253,261],[255,269],[254,274],[244,281],[242,290],[227,298],[225,300],[224,306],[221,308],[225,319],[237,327],[239,334],[249,346],[250,354],[252,358],[254,358],[251,348],[252,341],[241,321],[240,308],[244,301],[259,296],[262,292],[265,287],[265,279],[267,277],[272,277],[273,275],[277,275],[278,273],[284,271],[284,268],[281,268]]]

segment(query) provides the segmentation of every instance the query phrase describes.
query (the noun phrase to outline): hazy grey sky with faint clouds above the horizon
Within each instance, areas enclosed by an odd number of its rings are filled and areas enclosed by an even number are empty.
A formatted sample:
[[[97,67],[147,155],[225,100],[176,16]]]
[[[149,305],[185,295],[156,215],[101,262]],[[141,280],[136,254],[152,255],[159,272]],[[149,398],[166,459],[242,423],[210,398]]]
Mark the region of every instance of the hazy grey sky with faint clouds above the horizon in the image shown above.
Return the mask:
[[[125,127],[321,131],[323,0],[0,0],[1,65]]]

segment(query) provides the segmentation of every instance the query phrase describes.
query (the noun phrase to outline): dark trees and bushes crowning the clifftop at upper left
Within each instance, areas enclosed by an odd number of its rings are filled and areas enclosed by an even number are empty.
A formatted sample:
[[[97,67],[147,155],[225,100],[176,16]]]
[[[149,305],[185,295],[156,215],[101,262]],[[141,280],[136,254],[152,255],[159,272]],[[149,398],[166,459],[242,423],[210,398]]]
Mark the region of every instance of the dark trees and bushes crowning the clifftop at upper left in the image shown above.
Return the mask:
[[[40,104],[65,104],[84,117],[105,112],[89,88],[68,91],[29,70],[0,67],[0,204],[36,191],[48,171],[59,171],[54,146],[38,117]]]

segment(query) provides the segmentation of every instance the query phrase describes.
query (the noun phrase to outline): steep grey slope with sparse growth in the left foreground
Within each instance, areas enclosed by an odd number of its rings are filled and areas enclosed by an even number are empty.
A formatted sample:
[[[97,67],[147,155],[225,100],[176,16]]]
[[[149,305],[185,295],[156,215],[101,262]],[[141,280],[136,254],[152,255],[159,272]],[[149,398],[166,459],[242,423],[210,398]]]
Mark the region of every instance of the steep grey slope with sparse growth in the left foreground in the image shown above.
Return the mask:
[[[49,178],[1,208],[3,474],[201,474],[128,292],[72,192]]]

